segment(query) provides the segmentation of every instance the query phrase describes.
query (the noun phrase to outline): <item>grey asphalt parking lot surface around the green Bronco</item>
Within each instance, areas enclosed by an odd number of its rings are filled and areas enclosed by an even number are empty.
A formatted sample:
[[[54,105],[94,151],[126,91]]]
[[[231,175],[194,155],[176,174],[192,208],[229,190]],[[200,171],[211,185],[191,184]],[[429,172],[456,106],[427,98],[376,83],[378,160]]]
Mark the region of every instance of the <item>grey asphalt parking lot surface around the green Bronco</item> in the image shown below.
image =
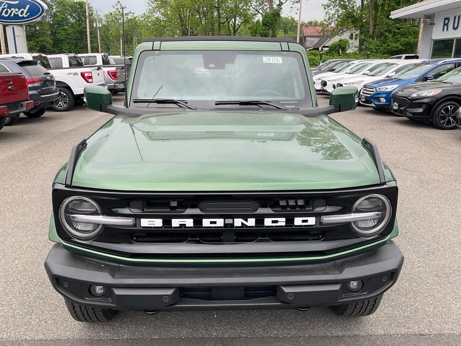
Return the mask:
[[[400,188],[396,242],[405,263],[377,313],[130,312],[107,324],[75,322],[43,268],[51,182],[72,145],[110,118],[76,107],[21,116],[0,131],[0,345],[461,345],[461,130],[367,108],[333,118],[377,144]]]

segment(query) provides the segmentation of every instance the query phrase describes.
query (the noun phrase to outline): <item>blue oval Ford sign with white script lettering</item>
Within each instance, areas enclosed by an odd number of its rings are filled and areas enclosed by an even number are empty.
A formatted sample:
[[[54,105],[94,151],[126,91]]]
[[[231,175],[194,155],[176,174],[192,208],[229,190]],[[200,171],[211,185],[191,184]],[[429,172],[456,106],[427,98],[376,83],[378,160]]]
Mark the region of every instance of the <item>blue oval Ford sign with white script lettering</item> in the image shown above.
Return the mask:
[[[40,0],[0,0],[0,24],[31,24],[47,12],[48,6]]]

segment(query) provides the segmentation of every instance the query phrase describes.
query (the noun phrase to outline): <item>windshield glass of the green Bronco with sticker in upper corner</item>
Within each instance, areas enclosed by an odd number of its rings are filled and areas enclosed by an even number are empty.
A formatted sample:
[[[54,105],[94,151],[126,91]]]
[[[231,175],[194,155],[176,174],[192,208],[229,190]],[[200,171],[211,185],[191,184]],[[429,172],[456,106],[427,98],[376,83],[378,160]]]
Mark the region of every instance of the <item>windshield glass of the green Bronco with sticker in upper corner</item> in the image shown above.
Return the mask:
[[[192,106],[216,101],[262,100],[287,107],[312,106],[303,58],[275,51],[145,51],[132,100],[175,99]],[[176,107],[140,103],[141,107]],[[235,107],[235,106],[234,106]]]

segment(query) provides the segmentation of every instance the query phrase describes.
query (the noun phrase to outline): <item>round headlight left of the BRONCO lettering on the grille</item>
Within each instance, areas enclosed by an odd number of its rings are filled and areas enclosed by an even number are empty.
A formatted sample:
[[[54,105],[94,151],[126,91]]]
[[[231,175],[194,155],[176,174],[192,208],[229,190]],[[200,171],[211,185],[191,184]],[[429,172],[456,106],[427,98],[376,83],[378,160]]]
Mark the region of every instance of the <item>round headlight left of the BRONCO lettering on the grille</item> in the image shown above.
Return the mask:
[[[65,231],[74,238],[87,240],[101,231],[102,225],[72,220],[73,215],[101,216],[101,208],[90,198],[72,196],[65,199],[59,207],[59,220]]]

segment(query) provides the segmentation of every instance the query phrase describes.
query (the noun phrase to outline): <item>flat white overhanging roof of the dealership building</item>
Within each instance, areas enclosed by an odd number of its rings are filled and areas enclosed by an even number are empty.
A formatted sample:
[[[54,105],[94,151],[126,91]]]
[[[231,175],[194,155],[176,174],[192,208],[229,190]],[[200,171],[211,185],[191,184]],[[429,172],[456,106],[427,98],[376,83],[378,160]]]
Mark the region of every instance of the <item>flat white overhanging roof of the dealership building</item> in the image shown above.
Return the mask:
[[[426,0],[391,12],[395,18],[424,18],[426,15],[461,7],[461,0]]]

